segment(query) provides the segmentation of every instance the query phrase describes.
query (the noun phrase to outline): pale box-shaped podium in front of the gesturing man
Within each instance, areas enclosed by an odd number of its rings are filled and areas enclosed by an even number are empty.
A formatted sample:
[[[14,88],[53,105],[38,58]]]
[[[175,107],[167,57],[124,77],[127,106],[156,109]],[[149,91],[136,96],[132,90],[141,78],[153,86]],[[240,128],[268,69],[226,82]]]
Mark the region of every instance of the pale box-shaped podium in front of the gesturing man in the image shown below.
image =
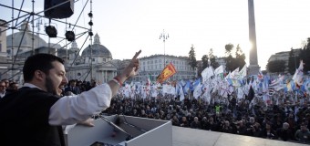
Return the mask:
[[[153,120],[124,115],[105,116],[124,131],[102,119],[94,127],[76,125],[67,132],[67,146],[172,146],[170,120]],[[126,133],[127,132],[127,133]],[[129,140],[129,135],[131,139]]]

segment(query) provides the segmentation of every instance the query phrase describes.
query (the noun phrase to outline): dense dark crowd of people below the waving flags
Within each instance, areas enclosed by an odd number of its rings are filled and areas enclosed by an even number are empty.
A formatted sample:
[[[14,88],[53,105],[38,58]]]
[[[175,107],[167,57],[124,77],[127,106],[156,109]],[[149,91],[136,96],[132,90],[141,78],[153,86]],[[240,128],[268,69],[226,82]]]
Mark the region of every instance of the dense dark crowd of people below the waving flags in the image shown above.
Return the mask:
[[[218,95],[212,95],[218,96]],[[119,96],[111,101],[106,114],[123,114],[156,120],[171,120],[172,125],[212,130],[272,140],[310,143],[310,108],[308,105],[254,106],[232,95],[229,104],[205,102],[203,99],[161,98],[135,99]]]

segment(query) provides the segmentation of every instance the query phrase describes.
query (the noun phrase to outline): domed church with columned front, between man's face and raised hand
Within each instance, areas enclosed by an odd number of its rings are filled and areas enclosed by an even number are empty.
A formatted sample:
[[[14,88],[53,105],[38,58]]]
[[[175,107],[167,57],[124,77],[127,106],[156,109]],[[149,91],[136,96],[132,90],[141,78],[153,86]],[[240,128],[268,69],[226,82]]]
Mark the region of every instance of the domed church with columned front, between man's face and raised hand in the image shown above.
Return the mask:
[[[117,75],[117,66],[112,62],[113,57],[107,47],[100,43],[98,34],[94,36],[94,44],[83,49],[78,56],[78,46],[72,43],[68,55],[67,78],[89,81],[94,79],[98,83],[107,82]]]

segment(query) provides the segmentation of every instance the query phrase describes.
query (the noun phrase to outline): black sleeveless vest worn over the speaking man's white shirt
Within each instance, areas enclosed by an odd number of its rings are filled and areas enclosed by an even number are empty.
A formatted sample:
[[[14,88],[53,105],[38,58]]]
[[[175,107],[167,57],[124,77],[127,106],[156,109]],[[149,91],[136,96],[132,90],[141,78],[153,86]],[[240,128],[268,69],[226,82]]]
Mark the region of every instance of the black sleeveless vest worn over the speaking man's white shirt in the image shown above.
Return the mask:
[[[0,100],[0,145],[65,145],[61,126],[48,123],[59,98],[41,89],[22,88]]]

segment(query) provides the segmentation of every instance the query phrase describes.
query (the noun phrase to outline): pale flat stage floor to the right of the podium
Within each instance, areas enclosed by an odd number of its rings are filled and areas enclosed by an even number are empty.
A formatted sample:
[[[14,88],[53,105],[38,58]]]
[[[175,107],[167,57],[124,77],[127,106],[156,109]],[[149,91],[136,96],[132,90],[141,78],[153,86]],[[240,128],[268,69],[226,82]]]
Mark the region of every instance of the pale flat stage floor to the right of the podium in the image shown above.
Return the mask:
[[[172,126],[173,146],[305,146],[295,142],[267,140],[249,136],[195,130]]]

